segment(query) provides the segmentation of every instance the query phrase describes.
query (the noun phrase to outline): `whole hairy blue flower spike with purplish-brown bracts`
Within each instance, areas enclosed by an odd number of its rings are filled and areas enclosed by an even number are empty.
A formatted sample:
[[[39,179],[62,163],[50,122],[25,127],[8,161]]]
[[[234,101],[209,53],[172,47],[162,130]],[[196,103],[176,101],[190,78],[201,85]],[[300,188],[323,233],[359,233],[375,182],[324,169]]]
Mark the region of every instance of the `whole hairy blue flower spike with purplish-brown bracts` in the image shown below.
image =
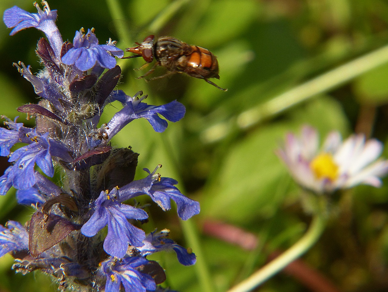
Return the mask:
[[[151,105],[141,90],[133,96],[117,90],[121,68],[116,57],[123,51],[116,41],[100,45],[93,28],[81,28],[73,43],[64,42],[55,24],[57,10],[46,1],[43,8],[34,5],[37,13],[14,6],[3,15],[10,35],[36,28],[44,37],[35,51],[42,65],[38,73],[14,63],[40,97],[38,104],[17,108],[35,117],[36,126],[1,116],[6,127],[0,127],[0,156],[11,165],[0,176],[0,195],[16,188],[17,202],[34,213],[24,225],[0,225],[0,256],[11,253],[17,273],[50,275],[62,292],[172,291],[158,286],[166,280],[165,271],[146,257],[172,250],[188,266],[196,256],[168,238],[168,230],[146,235],[142,225],[148,223],[144,208],[149,205],[137,202],[148,195],[168,211],[173,200],[184,220],[199,213],[199,203],[185,197],[176,180],[157,173],[161,165],[134,180],[139,154],[114,147],[112,138],[139,118],[161,133],[167,121],[184,117],[185,107],[176,100]],[[105,107],[115,101],[123,108],[103,123]]]

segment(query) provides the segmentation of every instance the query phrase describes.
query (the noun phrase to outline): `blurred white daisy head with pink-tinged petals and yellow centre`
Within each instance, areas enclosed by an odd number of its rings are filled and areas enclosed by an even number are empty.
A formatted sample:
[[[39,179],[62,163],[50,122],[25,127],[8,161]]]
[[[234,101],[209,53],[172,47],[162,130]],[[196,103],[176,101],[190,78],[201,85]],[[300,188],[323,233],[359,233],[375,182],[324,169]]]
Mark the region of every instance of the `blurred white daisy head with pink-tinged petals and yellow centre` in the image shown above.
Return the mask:
[[[383,143],[376,139],[365,141],[362,134],[342,142],[338,131],[329,133],[319,149],[317,131],[304,126],[300,138],[288,133],[284,149],[277,150],[277,155],[302,187],[331,193],[361,183],[380,187],[379,177],[388,172],[387,160],[376,161],[382,150]]]

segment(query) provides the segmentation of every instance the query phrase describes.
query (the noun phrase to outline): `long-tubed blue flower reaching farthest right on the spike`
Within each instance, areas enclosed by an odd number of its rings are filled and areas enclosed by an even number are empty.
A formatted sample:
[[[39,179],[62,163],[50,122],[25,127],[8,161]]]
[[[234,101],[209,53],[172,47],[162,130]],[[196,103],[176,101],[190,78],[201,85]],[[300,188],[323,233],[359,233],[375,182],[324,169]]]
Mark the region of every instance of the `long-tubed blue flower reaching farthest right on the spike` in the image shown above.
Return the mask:
[[[144,168],[149,175],[142,180],[132,181],[128,185],[120,188],[121,200],[130,199],[138,195],[146,194],[158,204],[163,211],[171,209],[172,199],[177,203],[178,216],[183,220],[187,220],[199,213],[199,203],[192,199],[185,197],[176,185],[178,182],[172,178],[161,177],[156,174],[156,171],[161,165],[154,169],[151,173],[147,168]]]

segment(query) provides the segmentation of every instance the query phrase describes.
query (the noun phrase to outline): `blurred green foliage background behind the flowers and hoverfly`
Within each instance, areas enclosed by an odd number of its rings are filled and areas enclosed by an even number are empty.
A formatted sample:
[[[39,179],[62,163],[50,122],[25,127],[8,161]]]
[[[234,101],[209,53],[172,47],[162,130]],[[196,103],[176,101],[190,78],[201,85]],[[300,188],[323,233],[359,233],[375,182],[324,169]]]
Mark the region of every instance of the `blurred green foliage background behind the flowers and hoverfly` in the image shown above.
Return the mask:
[[[13,5],[36,12],[31,0],[3,0],[0,10]],[[388,43],[388,1],[51,0],[49,5],[58,10],[64,40],[72,41],[81,27],[94,27],[100,43],[112,38],[121,49],[150,34],[171,35],[218,56],[220,80],[213,81],[229,88],[226,93],[185,74],[145,82],[136,77],[146,71],[133,70],[143,59],[119,61],[119,89],[128,95],[143,90],[149,104],[177,99],[187,109],[184,119],[170,123],[165,133],[154,133],[146,121],[136,120],[113,141],[140,153],[137,178],[145,176],[142,168],[161,163],[161,174],[176,178],[182,192],[201,204],[201,213],[183,229],[176,212],[155,206],[144,226],[146,231],[168,228],[171,238],[187,247],[193,233],[199,239],[192,246],[199,266],[182,267],[174,253],[157,258],[171,289],[203,291],[207,275],[211,290],[226,291],[303,236],[310,215],[274,153],[287,131],[311,124],[321,137],[339,130],[345,137],[362,132],[387,142],[388,50],[373,62],[365,55]],[[14,118],[16,107],[37,99],[12,62],[21,60],[38,72],[35,46],[43,34],[27,29],[11,37],[9,32],[0,25],[0,113]],[[338,71],[331,70],[339,66],[344,70],[334,74]],[[164,72],[158,68],[152,76]],[[312,78],[317,82],[306,83]],[[107,108],[104,120],[117,109],[119,104]],[[21,114],[19,121],[34,125],[24,118]],[[7,163],[1,157],[0,171]],[[387,291],[387,183],[334,197],[334,215],[320,241],[303,256],[303,269],[279,273],[258,290]],[[32,212],[17,206],[12,190],[0,197],[1,224],[8,219],[24,223]],[[258,244],[247,250],[204,230],[215,222],[251,233]],[[15,274],[11,266],[9,255],[0,259],[1,292],[55,291],[47,276]],[[201,273],[205,276],[198,278]],[[308,286],[303,276],[313,275],[336,290]]]

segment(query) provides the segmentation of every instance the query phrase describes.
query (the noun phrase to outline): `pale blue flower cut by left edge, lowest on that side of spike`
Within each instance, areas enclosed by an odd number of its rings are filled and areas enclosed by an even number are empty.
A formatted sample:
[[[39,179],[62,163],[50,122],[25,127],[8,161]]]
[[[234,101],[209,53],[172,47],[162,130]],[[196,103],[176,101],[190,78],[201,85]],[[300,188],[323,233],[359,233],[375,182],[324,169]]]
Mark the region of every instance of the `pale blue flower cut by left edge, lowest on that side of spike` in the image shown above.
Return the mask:
[[[0,225],[0,257],[11,251],[28,250],[28,232],[19,222]]]

